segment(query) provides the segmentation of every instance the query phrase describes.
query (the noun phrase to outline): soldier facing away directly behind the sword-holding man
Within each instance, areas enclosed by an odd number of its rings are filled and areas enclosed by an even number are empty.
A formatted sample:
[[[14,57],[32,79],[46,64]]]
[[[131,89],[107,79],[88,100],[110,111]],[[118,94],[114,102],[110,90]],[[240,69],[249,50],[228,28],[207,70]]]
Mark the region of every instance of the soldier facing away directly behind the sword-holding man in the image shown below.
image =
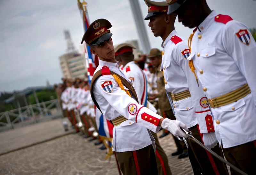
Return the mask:
[[[143,72],[140,67],[135,64],[133,61],[134,55],[132,53],[132,49],[134,47],[130,44],[123,43],[119,44],[115,47],[115,58],[118,58],[120,60],[120,63],[124,65],[124,75],[128,77],[128,79],[131,81],[132,86],[134,87],[137,97],[139,99],[139,104],[144,105],[151,109],[152,111],[156,111],[156,109],[152,108],[153,105],[151,105],[148,101],[148,94],[147,94],[147,79],[145,76],[145,73]],[[150,106],[149,106],[150,105]],[[159,175],[171,175],[171,170],[168,165],[168,159],[164,152],[164,149],[161,147],[158,137],[156,133],[151,131],[151,134],[153,135],[154,139],[156,140],[156,163],[157,163],[157,169]]]

